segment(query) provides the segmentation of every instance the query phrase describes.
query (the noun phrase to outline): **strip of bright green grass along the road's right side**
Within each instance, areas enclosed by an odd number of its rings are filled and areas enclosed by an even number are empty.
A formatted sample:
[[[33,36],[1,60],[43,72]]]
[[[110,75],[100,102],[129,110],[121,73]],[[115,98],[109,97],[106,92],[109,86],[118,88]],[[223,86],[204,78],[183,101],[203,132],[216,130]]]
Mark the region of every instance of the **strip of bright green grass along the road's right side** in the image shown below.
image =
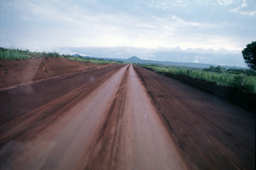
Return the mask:
[[[256,76],[255,71],[247,71],[243,69],[222,71],[207,71],[207,70],[192,70],[172,67],[162,67],[157,65],[140,65],[149,68],[155,72],[164,74],[182,74],[192,78],[204,79],[211,82],[216,82],[218,85],[237,87],[241,90],[256,93]],[[218,70],[218,68],[217,68]],[[241,73],[242,72],[242,73]]]

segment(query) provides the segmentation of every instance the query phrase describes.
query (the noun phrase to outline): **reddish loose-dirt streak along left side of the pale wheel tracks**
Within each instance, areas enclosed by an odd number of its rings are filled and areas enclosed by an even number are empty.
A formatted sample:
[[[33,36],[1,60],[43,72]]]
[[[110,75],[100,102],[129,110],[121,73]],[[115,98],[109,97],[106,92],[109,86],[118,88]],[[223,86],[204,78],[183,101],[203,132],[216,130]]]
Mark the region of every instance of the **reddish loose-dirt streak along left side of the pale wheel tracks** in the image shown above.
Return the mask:
[[[116,72],[118,69],[114,69]],[[113,72],[105,75],[113,74]],[[46,128],[50,128],[53,122],[57,121],[60,117],[68,113],[68,111],[75,107],[77,103],[88,96],[94,89],[96,89],[100,84],[104,83],[107,79],[97,79],[92,85],[90,91],[85,90],[86,85],[77,87],[76,89],[68,92],[67,94],[44,104],[34,110],[24,113],[20,116],[12,118],[7,123],[11,124],[9,126],[5,124],[0,126],[1,129],[1,140],[0,147],[4,145],[6,141],[9,140],[30,140],[37,135],[38,131],[43,131]],[[35,128],[36,127],[36,128]],[[8,131],[7,131],[7,129]],[[6,131],[6,133],[4,133]],[[7,133],[8,132],[8,133]],[[26,134],[24,136],[23,134]]]

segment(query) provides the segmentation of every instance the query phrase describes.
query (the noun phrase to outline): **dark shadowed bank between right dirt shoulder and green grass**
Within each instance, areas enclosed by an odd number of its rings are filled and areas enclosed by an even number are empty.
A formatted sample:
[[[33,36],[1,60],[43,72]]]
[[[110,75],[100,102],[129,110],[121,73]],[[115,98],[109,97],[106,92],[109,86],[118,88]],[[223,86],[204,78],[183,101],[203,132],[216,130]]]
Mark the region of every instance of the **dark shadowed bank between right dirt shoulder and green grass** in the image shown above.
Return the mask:
[[[168,72],[168,71],[164,71],[166,68],[159,67],[159,66],[155,66],[154,68],[154,66],[144,65],[143,67],[149,70],[155,71],[159,74],[165,75],[167,77],[177,79],[187,85],[196,87],[205,92],[214,94],[222,99],[229,101],[230,103],[240,106],[244,110],[249,110],[253,113],[256,113],[256,105],[255,105],[256,93],[246,91],[244,89],[244,85],[241,84],[241,82],[237,81],[236,79],[234,79],[233,81],[239,86],[218,85],[215,81],[208,81],[202,78],[194,78],[186,74],[179,74],[179,73],[183,73],[185,70],[177,69],[176,70],[177,72],[171,72],[171,71]],[[163,68],[163,70],[161,70],[161,68]],[[202,71],[202,70],[199,71],[199,73],[201,72],[205,72],[205,71]],[[222,73],[222,74],[225,74],[225,73]],[[244,76],[244,75],[238,75],[238,76]]]

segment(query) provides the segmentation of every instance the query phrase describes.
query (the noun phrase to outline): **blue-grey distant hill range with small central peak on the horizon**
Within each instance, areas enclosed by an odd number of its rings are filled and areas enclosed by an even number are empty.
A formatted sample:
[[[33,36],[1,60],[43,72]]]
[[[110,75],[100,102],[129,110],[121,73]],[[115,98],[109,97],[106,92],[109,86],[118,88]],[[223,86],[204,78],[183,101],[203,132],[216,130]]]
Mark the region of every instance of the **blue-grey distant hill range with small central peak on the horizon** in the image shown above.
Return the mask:
[[[75,54],[72,56],[81,56],[79,54]],[[84,58],[95,58],[95,59],[103,59],[103,60],[110,60],[110,61],[122,61],[127,63],[140,63],[140,64],[161,64],[161,65],[177,65],[177,66],[187,66],[187,67],[197,67],[197,68],[209,68],[210,66],[218,66],[214,64],[202,64],[202,63],[181,63],[181,62],[168,62],[168,61],[154,61],[154,60],[143,60],[139,57],[132,56],[128,59],[121,59],[121,58],[100,58],[100,57],[90,57],[90,56],[82,56]],[[221,67],[225,67],[227,69],[248,69],[245,67],[236,67],[236,66],[227,66],[227,65],[221,65]]]

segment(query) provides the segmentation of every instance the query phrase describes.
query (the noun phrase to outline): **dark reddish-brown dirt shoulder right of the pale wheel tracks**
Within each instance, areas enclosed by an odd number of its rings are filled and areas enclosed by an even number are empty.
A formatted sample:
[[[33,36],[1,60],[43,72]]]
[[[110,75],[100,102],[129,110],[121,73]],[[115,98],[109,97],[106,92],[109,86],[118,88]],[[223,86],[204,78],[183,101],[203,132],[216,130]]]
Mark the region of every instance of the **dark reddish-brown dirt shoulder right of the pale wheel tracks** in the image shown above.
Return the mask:
[[[191,169],[254,169],[255,115],[211,94],[134,66]]]

